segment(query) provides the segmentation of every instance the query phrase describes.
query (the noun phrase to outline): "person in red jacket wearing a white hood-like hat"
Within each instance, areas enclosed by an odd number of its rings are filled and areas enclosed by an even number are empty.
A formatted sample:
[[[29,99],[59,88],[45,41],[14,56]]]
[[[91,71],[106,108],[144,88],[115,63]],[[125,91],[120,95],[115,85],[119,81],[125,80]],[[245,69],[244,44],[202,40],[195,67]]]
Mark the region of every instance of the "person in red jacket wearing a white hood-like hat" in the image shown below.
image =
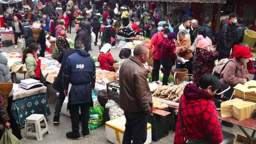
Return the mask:
[[[98,61],[100,62],[100,66],[102,70],[115,72],[114,58],[110,54],[110,49],[111,49],[111,45],[109,43],[103,45],[100,50]]]

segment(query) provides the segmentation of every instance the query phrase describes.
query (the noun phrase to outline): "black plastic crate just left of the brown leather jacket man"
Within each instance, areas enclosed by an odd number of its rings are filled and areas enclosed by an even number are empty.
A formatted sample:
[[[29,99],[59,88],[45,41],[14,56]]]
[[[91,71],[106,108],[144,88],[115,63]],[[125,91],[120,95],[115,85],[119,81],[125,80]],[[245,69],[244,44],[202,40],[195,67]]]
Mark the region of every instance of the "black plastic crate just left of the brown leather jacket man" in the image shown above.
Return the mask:
[[[112,99],[116,102],[119,102],[119,89],[119,80],[107,83],[108,99]]]

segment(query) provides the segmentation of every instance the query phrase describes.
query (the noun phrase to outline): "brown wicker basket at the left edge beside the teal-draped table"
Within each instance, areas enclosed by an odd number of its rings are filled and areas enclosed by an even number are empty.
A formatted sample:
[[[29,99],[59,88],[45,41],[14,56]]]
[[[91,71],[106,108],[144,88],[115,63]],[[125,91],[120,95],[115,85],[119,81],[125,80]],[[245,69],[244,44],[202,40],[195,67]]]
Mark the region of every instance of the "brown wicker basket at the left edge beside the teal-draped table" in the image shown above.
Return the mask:
[[[10,82],[0,82],[0,91],[2,93],[4,106],[6,108],[8,106],[7,99],[8,99],[9,93],[12,90],[12,86],[13,86],[13,83],[10,83]]]

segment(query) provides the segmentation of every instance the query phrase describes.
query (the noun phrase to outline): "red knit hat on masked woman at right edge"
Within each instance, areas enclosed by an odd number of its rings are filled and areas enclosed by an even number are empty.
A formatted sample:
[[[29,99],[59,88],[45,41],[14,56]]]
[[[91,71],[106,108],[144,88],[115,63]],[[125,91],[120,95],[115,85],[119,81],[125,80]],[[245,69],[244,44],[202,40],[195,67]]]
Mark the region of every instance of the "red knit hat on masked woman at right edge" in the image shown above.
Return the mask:
[[[253,57],[253,55],[251,54],[251,51],[245,45],[241,45],[241,46],[234,45],[233,50],[234,50],[235,58],[238,58],[238,57],[244,57],[244,58]]]

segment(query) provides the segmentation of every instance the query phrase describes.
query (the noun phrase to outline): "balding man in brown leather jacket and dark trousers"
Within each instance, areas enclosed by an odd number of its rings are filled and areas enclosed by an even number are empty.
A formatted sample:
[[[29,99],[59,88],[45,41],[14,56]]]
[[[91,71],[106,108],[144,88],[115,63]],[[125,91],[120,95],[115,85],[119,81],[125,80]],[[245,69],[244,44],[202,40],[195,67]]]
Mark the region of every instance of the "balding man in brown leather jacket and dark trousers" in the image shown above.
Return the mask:
[[[120,108],[126,117],[123,144],[143,144],[147,136],[147,115],[152,113],[152,97],[146,80],[150,70],[146,63],[149,51],[145,45],[137,45],[120,67]]]

